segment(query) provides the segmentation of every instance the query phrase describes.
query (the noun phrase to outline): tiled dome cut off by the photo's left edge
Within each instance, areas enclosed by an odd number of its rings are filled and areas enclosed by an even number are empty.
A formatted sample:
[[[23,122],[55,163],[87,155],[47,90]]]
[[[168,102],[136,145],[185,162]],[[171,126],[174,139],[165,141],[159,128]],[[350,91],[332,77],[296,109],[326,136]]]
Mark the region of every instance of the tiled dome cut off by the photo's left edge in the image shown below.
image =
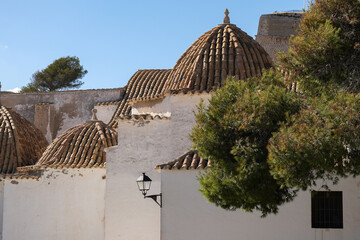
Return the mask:
[[[48,145],[44,135],[20,114],[0,105],[0,173],[32,165]]]

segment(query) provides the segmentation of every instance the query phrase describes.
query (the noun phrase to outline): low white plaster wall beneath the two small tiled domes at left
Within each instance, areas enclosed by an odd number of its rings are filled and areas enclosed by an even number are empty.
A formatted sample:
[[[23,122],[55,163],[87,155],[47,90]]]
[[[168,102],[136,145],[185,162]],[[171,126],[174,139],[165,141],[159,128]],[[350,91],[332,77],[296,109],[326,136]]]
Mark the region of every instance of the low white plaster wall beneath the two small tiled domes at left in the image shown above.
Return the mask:
[[[6,179],[3,239],[104,239],[105,169],[46,170]]]

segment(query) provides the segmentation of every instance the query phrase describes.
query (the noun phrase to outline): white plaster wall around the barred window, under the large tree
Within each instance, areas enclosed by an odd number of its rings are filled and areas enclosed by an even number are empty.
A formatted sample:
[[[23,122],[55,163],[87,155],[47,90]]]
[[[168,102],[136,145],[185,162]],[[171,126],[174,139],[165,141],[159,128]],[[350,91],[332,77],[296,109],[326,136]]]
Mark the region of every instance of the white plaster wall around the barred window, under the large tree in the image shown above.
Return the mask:
[[[343,191],[343,229],[311,228],[311,195],[301,192],[277,215],[260,218],[258,212],[225,211],[198,191],[199,171],[163,170],[161,191],[162,240],[355,240],[360,239],[360,177],[332,187]]]

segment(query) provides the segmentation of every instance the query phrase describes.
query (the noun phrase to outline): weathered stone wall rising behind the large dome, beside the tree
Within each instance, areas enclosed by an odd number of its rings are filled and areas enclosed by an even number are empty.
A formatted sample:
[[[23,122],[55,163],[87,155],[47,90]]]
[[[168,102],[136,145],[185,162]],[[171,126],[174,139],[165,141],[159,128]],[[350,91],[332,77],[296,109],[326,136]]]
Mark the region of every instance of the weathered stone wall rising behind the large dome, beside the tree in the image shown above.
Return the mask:
[[[278,51],[287,52],[289,39],[296,35],[303,12],[276,12],[261,15],[256,41],[274,60]]]

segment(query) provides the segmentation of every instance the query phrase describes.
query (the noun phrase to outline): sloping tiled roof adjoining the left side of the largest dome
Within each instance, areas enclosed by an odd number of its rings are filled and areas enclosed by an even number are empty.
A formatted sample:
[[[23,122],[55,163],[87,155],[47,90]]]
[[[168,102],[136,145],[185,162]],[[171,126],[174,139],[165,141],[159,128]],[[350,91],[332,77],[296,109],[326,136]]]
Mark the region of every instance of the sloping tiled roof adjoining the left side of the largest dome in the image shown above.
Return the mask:
[[[130,114],[131,106],[128,100],[159,95],[170,71],[170,69],[138,70],[126,86],[124,97],[109,122],[110,127],[117,128],[117,121],[121,114]]]

